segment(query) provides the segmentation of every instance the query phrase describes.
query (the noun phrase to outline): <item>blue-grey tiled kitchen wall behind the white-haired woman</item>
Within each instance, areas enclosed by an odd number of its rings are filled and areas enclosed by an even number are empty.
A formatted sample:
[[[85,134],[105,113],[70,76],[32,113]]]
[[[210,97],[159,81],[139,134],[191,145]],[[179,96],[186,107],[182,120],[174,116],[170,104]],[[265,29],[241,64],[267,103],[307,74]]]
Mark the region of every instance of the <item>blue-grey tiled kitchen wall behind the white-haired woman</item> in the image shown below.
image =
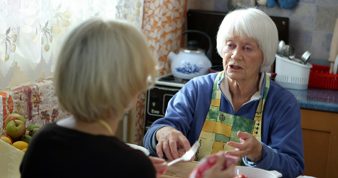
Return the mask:
[[[189,0],[189,9],[227,12],[228,0]],[[246,6],[250,0],[242,0]],[[279,0],[283,1],[283,0]],[[259,5],[270,16],[288,17],[289,45],[296,50],[296,57],[305,51],[311,52],[313,63],[329,65],[333,29],[338,18],[338,0],[298,0],[290,9],[283,9],[278,1],[273,8]]]

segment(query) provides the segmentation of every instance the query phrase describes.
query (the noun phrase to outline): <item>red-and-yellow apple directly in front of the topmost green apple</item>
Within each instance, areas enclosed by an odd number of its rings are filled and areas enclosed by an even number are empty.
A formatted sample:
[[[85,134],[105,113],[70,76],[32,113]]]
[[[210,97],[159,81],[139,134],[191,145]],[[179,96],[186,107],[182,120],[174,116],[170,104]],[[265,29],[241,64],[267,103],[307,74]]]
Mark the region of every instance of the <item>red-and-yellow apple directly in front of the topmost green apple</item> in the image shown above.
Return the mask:
[[[7,135],[13,139],[13,141],[18,141],[21,136],[26,133],[26,124],[20,120],[10,121],[7,124],[6,132]]]

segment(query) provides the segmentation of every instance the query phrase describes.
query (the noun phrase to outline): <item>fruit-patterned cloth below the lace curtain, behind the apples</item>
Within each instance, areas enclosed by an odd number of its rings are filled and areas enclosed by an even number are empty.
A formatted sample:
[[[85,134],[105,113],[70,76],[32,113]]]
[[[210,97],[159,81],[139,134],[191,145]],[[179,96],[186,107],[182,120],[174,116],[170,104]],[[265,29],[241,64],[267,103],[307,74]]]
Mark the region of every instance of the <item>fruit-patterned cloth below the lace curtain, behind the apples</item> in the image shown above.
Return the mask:
[[[0,92],[2,107],[0,118],[3,120],[11,113],[19,113],[26,119],[26,126],[43,126],[49,122],[68,117],[61,110],[53,86],[53,79],[39,79],[35,83],[24,83]]]

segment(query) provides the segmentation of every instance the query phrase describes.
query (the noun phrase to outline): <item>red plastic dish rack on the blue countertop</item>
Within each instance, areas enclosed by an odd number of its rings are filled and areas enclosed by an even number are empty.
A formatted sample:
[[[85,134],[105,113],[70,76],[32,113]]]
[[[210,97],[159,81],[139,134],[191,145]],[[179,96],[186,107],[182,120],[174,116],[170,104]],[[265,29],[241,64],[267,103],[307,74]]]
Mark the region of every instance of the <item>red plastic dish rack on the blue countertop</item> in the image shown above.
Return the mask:
[[[309,86],[316,88],[326,88],[338,90],[338,74],[329,74],[329,66],[312,64],[310,70]]]

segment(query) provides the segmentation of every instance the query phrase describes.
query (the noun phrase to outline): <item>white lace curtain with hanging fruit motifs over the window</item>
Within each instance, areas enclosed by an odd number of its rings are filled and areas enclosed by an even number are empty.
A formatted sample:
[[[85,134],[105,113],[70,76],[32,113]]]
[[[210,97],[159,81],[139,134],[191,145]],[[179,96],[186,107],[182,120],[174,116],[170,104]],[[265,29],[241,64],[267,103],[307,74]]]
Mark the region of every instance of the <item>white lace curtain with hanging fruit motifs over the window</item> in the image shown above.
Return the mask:
[[[142,29],[143,0],[0,0],[0,87],[6,90],[17,62],[32,82],[54,72],[62,39],[92,16],[126,19]]]

